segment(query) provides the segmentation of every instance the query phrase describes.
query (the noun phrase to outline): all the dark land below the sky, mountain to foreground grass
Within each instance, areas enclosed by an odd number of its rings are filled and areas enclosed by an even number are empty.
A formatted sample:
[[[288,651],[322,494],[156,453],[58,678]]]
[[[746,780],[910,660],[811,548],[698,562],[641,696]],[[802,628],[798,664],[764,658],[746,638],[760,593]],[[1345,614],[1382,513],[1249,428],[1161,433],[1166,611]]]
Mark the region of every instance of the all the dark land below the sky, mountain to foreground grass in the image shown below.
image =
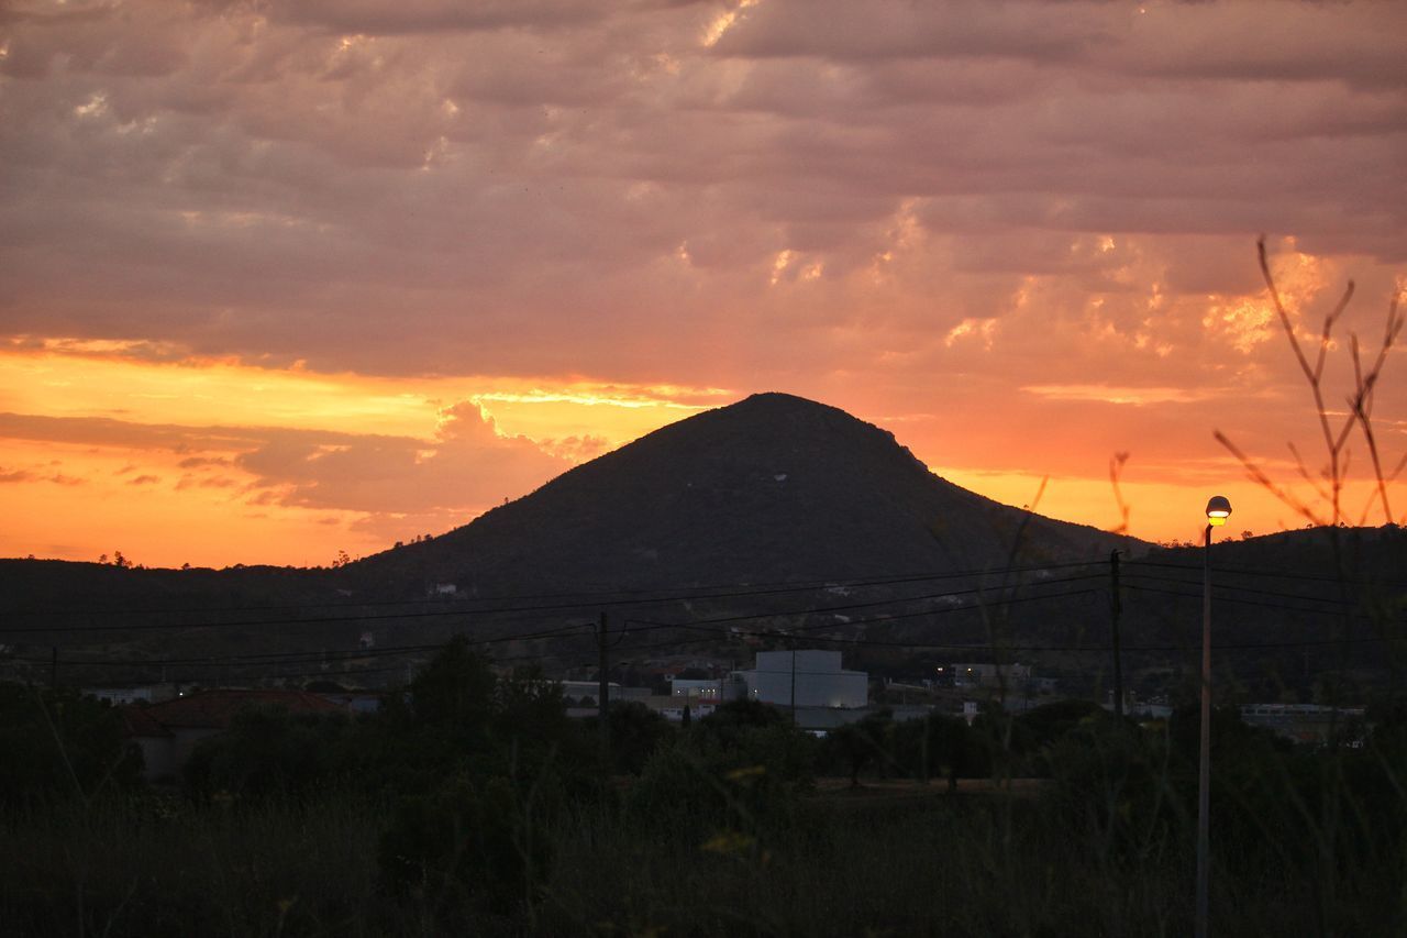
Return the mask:
[[[996,504],[878,427],[758,394],[335,568],[4,561],[24,848],[0,914],[1180,932],[1200,555]],[[1389,934],[1407,537],[1247,537],[1213,566],[1218,930]],[[808,703],[844,680],[847,703]]]

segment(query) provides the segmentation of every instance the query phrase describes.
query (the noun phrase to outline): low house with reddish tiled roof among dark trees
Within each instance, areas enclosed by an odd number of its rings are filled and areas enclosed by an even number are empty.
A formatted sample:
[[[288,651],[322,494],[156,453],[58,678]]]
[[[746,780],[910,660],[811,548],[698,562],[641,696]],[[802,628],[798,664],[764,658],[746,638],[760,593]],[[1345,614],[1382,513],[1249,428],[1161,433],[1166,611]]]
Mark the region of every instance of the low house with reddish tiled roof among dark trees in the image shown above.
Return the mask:
[[[149,707],[121,707],[127,735],[142,749],[148,782],[170,780],[207,737],[224,732],[241,710],[269,707],[288,713],[345,713],[346,707],[305,690],[201,690]]]

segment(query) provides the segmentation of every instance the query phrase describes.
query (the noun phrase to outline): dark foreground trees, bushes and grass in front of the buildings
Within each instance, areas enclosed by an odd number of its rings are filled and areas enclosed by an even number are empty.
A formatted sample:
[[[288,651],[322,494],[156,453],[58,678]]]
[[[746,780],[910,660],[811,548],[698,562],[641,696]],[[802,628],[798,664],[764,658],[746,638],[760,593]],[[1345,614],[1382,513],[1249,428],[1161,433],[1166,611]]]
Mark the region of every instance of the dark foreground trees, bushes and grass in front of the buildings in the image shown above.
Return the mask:
[[[1195,711],[817,741],[747,703],[685,728],[619,706],[606,777],[535,675],[450,645],[408,690],[357,720],[245,713],[152,790],[117,711],[0,687],[0,932],[1192,931]],[[1216,934],[1407,934],[1407,701],[1369,723],[1304,749],[1217,714]]]

